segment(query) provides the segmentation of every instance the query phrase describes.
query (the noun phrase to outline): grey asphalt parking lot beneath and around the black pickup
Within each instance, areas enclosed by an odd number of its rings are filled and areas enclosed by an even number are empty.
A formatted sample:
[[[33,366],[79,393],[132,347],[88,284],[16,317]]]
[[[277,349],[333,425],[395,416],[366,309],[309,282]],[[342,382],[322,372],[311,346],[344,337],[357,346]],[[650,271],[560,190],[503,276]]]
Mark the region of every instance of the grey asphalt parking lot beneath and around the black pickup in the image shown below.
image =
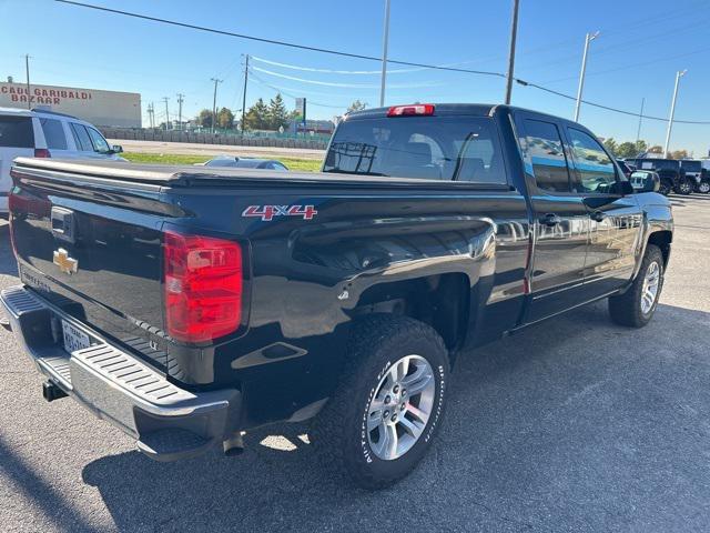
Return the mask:
[[[332,479],[288,428],[154,463],[41,378],[0,328],[3,531],[708,531],[710,195],[673,199],[652,323],[606,303],[465,354],[419,469],[368,493]],[[0,222],[0,224],[3,224]],[[0,225],[0,288],[17,283]]]

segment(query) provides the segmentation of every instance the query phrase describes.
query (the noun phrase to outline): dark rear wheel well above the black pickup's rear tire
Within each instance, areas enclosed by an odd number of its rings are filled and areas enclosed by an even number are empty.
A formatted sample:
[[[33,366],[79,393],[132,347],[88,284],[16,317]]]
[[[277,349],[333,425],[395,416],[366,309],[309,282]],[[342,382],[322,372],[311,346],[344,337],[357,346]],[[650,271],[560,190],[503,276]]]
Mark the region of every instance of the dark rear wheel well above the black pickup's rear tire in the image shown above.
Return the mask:
[[[392,313],[424,322],[442,335],[450,352],[459,348],[466,336],[469,289],[468,276],[463,273],[381,283],[363,293],[356,311],[357,314]]]

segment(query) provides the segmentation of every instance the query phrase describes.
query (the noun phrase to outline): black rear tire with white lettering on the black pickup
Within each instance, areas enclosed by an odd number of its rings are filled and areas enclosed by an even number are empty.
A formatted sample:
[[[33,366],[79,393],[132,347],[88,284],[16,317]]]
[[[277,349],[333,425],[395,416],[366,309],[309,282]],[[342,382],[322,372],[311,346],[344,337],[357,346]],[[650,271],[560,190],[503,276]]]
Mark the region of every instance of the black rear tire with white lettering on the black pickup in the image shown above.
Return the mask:
[[[381,380],[394,369],[395,363],[413,354],[426,360],[435,382],[429,418],[406,453],[397,459],[383,460],[376,455],[367,438],[371,401],[378,390],[383,390]],[[355,484],[369,490],[389,486],[409,474],[424,457],[442,424],[448,373],[448,351],[439,334],[427,324],[388,314],[364,318],[353,332],[343,382],[312,428],[313,443],[326,466],[338,470]],[[395,402],[396,408],[399,400]]]

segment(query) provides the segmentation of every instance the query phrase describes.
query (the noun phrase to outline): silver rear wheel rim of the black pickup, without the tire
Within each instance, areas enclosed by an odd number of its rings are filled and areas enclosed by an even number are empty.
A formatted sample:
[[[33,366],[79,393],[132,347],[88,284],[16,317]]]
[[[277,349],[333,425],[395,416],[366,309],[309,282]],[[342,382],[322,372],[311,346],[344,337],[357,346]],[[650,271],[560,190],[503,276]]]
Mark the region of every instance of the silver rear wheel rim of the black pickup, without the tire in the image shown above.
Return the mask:
[[[407,453],[426,428],[436,395],[432,365],[405,355],[387,370],[367,408],[367,442],[384,461]]]

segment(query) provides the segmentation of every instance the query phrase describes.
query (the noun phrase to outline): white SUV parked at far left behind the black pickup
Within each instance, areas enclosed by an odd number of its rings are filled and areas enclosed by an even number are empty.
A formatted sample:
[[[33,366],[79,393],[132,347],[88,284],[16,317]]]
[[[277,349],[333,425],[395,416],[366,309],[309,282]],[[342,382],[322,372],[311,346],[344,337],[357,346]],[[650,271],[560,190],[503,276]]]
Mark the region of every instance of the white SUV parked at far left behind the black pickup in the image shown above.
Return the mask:
[[[0,108],[0,218],[8,215],[10,167],[18,157],[123,160],[89,122],[52,111]]]

